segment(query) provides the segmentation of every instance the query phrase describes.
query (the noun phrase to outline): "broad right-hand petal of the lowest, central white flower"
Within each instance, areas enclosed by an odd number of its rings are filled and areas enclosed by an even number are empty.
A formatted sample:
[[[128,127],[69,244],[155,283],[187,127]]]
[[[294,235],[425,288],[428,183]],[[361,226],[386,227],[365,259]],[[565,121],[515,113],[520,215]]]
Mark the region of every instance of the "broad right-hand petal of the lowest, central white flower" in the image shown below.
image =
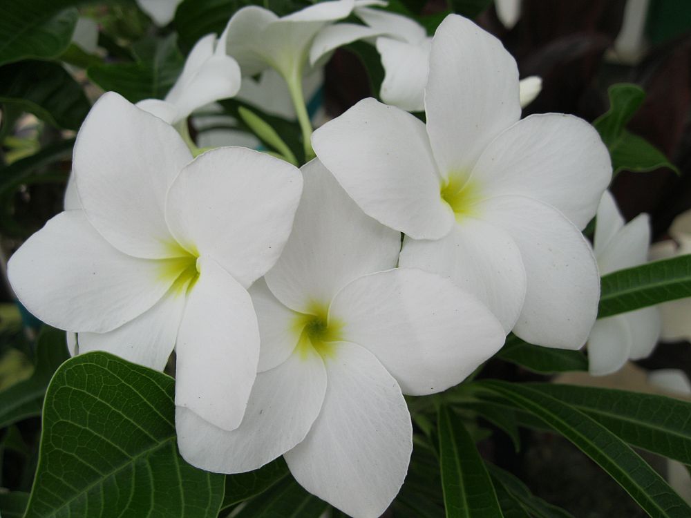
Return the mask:
[[[377,356],[404,394],[457,385],[504,345],[506,333],[479,300],[451,280],[418,269],[361,277],[329,308],[345,340]]]

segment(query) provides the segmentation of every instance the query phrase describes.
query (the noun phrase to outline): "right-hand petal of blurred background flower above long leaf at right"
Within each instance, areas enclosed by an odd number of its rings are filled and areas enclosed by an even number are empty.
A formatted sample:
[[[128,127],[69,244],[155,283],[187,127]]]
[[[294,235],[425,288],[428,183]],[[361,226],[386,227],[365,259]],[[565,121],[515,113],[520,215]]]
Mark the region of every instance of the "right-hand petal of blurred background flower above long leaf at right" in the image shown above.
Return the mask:
[[[650,218],[647,214],[638,214],[598,252],[600,275],[642,265],[647,260],[649,245]]]

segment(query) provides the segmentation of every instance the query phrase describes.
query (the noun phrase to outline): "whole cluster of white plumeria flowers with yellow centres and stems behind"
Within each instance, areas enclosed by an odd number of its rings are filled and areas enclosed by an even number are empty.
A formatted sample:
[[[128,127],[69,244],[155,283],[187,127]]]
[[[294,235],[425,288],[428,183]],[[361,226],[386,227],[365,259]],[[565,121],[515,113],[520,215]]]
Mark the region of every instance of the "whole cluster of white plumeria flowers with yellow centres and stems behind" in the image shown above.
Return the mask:
[[[356,518],[381,515],[406,477],[405,395],[461,383],[511,331],[563,349],[590,336],[599,354],[598,260],[620,267],[609,249],[638,229],[600,203],[612,169],[594,128],[520,119],[498,39],[457,15],[428,38],[377,3],[243,8],[198,42],[163,101],[106,93],[77,136],[66,210],[9,264],[21,302],[70,332],[73,354],[162,370],[175,350],[178,446],[193,466],[246,472],[283,455]],[[390,84],[410,86],[389,84],[390,99],[426,123],[364,99],[312,135],[303,75],[355,30],[335,23],[352,12]],[[386,57],[399,44],[419,47],[414,79],[393,71],[406,50]],[[269,67],[307,164],[239,147],[193,157],[180,123]],[[598,225],[596,260],[581,230],[598,204],[614,220]]]

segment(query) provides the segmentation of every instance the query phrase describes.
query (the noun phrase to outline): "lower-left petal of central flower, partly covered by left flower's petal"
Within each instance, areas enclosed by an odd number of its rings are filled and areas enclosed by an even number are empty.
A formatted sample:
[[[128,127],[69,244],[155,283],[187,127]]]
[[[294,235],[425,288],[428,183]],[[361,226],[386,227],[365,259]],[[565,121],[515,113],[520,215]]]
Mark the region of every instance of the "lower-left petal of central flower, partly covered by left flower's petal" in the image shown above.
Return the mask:
[[[221,430],[176,407],[182,458],[216,473],[260,468],[305,439],[321,410],[326,383],[321,356],[296,352],[275,369],[257,375],[236,430]]]

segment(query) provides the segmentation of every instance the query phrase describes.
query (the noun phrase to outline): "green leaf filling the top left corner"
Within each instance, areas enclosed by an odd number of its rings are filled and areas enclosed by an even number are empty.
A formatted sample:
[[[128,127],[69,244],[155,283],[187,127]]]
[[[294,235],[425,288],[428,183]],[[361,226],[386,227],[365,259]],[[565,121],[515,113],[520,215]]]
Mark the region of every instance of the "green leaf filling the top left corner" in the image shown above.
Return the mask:
[[[79,12],[68,0],[6,1],[0,16],[0,65],[58,57],[70,44]]]

